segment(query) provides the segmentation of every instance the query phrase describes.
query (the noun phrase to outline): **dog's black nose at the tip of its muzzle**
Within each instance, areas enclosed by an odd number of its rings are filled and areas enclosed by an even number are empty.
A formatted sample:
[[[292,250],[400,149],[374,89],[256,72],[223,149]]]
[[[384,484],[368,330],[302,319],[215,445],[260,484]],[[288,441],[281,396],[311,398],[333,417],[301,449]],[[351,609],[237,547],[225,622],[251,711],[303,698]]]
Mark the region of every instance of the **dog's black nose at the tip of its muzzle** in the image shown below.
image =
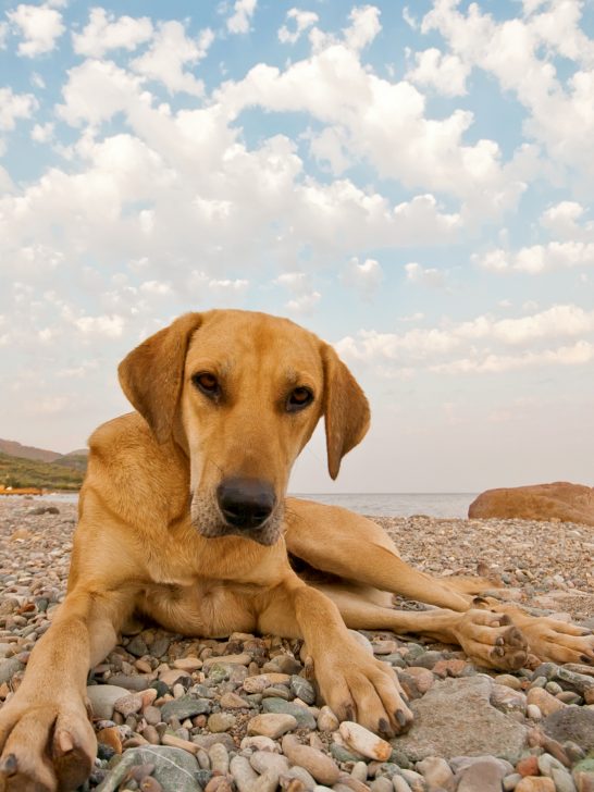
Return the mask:
[[[259,479],[226,479],[216,487],[216,500],[225,521],[234,528],[259,528],[270,517],[276,496],[271,484]]]

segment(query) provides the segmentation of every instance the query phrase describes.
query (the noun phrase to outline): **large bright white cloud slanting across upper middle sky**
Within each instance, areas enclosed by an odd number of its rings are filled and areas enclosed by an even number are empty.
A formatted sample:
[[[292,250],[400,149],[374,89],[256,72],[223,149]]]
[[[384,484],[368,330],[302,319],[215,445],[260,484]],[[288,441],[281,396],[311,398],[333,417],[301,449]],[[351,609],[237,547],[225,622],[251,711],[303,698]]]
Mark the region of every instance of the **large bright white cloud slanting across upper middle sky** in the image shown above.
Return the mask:
[[[333,168],[343,166],[347,157],[367,161],[382,178],[458,198],[469,220],[496,218],[513,208],[525,189],[524,178],[535,172],[534,152],[520,149],[503,164],[494,140],[463,141],[473,123],[470,111],[428,119],[417,88],[406,81],[382,79],[362,64],[352,42],[363,40],[362,32],[371,35],[368,16],[371,12],[366,12],[366,25],[359,20],[359,34],[350,39],[324,39],[314,54],[284,71],[259,64],[244,79],[226,83],[215,99],[233,116],[253,106],[307,112],[324,124],[315,156],[330,149]]]

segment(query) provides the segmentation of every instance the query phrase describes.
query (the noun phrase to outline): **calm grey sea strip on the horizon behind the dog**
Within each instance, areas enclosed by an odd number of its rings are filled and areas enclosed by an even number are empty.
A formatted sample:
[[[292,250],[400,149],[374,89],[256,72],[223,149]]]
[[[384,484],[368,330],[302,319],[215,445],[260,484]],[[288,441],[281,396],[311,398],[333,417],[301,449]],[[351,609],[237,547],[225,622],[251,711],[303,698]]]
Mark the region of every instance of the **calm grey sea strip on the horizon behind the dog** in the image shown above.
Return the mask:
[[[465,492],[424,492],[424,493],[329,493],[308,494],[290,493],[293,497],[317,500],[321,504],[343,506],[345,509],[357,511],[360,515],[375,515],[382,517],[411,517],[412,515],[428,515],[429,517],[466,518],[468,507],[478,493]],[[76,503],[76,493],[55,493],[52,495],[36,495],[35,499],[65,500]]]

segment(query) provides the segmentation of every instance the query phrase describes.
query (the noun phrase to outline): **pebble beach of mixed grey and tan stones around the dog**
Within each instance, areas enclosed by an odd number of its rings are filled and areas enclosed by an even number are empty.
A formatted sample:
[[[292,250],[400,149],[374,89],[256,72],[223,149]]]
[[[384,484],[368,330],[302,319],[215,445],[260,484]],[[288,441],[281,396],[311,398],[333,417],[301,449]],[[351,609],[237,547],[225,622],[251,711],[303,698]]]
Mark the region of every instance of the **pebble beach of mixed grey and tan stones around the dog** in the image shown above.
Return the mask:
[[[0,502],[0,704],[64,596],[75,519],[74,504]],[[479,571],[505,584],[493,592],[499,597],[594,627],[591,527],[376,521],[425,571]],[[414,725],[391,743],[338,726],[317,700],[299,642],[243,633],[190,640],[138,626],[89,676],[99,756],[84,789],[594,790],[593,667],[543,664],[497,675],[455,647],[359,635],[411,698]]]

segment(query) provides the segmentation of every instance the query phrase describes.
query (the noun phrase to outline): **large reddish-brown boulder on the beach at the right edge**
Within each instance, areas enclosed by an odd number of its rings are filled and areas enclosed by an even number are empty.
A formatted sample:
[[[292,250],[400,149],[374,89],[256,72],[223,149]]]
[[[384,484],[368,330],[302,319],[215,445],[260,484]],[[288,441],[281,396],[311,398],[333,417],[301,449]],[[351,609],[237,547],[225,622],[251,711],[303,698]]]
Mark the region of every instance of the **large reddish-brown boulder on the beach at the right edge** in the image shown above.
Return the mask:
[[[594,525],[594,487],[558,481],[487,490],[470,504],[468,516],[510,520],[560,520]]]

